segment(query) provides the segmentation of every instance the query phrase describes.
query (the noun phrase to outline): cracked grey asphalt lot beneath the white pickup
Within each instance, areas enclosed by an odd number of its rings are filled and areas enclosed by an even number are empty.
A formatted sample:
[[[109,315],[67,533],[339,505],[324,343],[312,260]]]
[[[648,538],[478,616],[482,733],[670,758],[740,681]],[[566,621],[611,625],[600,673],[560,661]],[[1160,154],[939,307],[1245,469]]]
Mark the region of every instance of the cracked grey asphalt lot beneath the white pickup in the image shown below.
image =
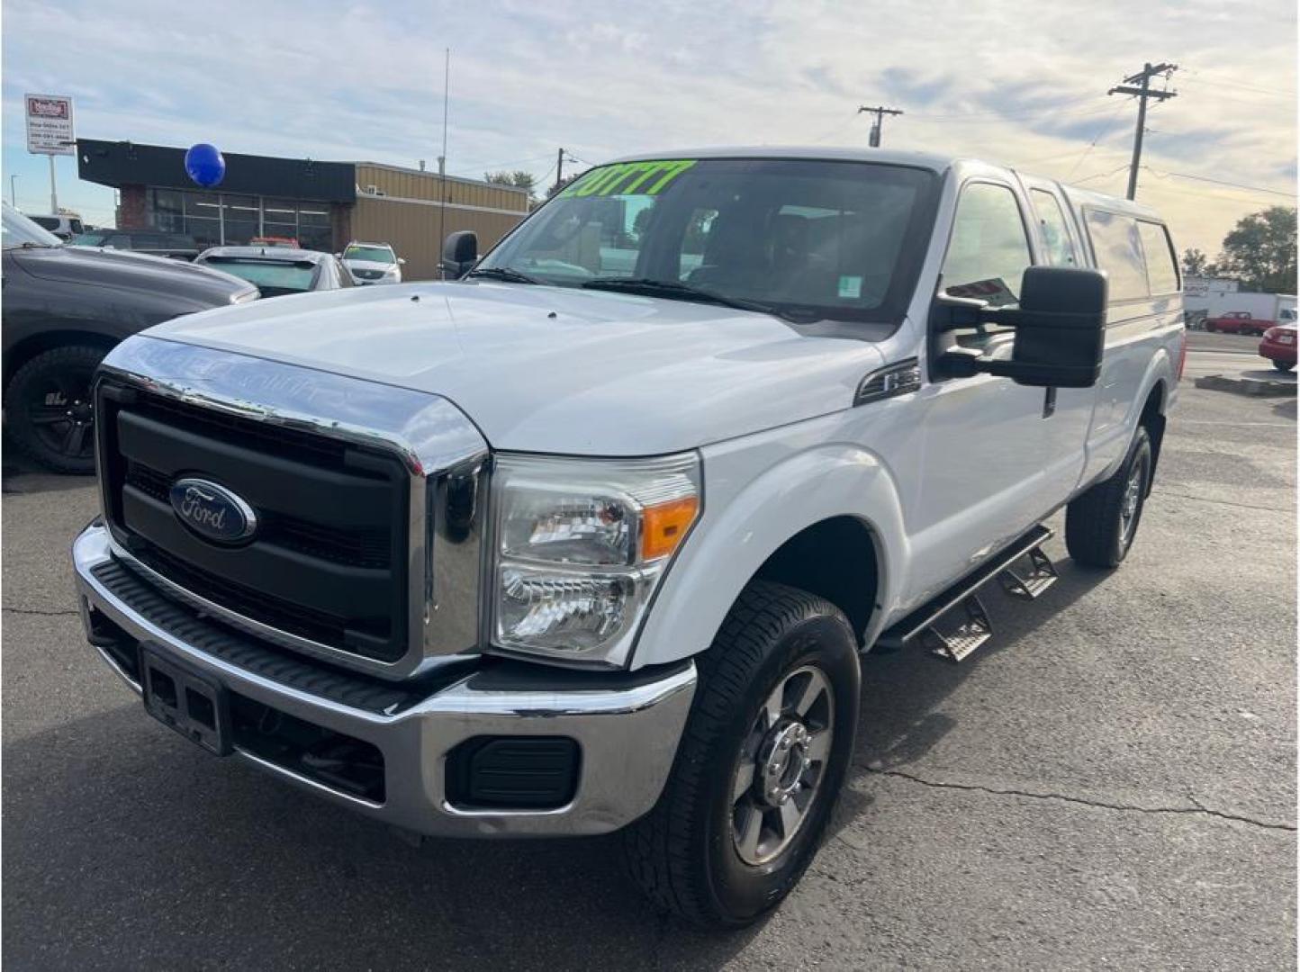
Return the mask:
[[[961,667],[868,659],[833,832],[732,934],[656,915],[616,838],[415,849],[187,745],[82,639],[90,482],[6,469],[4,962],[1295,968],[1295,461],[1294,398],[1184,381],[1128,561],[1053,541],[1061,582],[991,594]]]

